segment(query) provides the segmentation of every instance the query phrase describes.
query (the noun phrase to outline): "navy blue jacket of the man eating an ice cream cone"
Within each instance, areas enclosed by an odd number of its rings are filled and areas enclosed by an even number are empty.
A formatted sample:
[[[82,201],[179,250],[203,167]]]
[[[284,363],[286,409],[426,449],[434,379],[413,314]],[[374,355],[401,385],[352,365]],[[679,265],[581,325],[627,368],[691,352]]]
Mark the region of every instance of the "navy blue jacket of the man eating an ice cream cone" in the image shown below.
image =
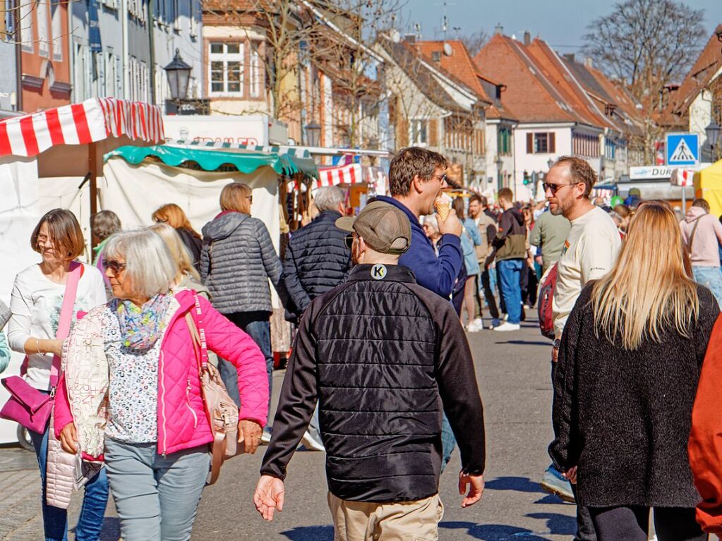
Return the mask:
[[[385,195],[378,195],[376,200],[401,208],[411,221],[411,246],[401,255],[399,265],[412,270],[419,286],[448,299],[453,291],[456,277],[464,267],[461,239],[453,234],[442,235],[437,257],[430,239],[412,211],[409,211],[403,203]]]

